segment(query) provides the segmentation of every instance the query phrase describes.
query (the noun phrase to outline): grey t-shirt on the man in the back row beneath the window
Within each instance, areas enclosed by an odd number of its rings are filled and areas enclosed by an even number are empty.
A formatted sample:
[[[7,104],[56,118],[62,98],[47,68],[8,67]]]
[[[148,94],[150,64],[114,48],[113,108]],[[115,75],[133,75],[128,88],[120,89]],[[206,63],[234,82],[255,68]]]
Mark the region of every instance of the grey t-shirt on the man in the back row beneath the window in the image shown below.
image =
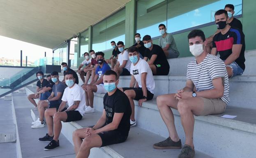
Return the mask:
[[[164,48],[166,44],[170,44],[168,50],[175,50],[176,52],[179,52],[175,44],[174,38],[170,33],[167,33],[166,37],[163,37],[163,36],[159,37],[158,45],[161,48]]]

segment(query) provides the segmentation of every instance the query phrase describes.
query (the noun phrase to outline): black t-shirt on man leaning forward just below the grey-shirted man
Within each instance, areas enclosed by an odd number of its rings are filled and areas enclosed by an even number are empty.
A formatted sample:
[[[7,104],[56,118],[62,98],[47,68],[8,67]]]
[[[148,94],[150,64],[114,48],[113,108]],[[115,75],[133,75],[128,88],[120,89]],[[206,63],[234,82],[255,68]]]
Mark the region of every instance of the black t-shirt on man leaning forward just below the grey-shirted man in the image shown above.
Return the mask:
[[[148,48],[146,48],[145,50],[145,57],[148,57],[149,59],[151,59],[152,55],[154,54],[157,55],[157,59],[155,60],[154,65],[167,66],[166,69],[170,68],[169,63],[164,54],[164,50],[156,44],[153,44],[152,50]]]

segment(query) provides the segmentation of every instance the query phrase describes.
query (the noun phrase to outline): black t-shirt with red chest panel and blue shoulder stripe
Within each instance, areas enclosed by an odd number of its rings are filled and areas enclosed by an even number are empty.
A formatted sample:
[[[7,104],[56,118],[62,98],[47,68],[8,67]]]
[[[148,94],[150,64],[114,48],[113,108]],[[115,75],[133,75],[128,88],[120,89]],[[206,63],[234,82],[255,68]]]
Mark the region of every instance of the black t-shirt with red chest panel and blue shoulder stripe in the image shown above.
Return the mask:
[[[244,70],[245,41],[242,30],[231,27],[226,34],[221,34],[221,32],[215,34],[212,40],[212,48],[217,48],[222,60],[226,60],[231,55],[233,44],[242,44],[240,55],[235,62]]]

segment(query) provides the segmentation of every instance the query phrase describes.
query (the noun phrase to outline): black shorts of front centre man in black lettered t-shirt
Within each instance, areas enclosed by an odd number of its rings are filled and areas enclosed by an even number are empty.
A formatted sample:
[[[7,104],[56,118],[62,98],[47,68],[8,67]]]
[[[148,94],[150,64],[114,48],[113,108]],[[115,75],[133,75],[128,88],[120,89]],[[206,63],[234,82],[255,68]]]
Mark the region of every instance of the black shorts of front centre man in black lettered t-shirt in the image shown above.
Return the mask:
[[[106,131],[98,133],[98,135],[101,137],[102,145],[101,147],[105,147],[107,145],[111,144],[118,144],[125,142],[127,139],[127,136],[123,136],[119,131],[113,130],[113,131]]]

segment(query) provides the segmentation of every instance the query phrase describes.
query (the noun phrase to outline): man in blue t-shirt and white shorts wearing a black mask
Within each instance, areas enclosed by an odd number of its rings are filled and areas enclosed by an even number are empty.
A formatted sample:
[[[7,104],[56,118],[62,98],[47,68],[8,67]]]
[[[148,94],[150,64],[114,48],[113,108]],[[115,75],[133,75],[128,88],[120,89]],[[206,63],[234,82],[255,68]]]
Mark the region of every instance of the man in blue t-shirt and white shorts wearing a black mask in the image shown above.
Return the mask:
[[[86,107],[85,107],[85,113],[92,113],[94,112],[93,107],[93,98],[94,94],[93,92],[102,94],[106,93],[106,90],[104,89],[103,84],[103,76],[104,73],[110,69],[110,66],[105,62],[104,60],[104,53],[103,52],[97,52],[96,53],[96,60],[98,62],[98,65],[95,70],[95,77],[92,78],[89,85],[83,85],[82,88],[85,90],[85,98],[86,98]]]

